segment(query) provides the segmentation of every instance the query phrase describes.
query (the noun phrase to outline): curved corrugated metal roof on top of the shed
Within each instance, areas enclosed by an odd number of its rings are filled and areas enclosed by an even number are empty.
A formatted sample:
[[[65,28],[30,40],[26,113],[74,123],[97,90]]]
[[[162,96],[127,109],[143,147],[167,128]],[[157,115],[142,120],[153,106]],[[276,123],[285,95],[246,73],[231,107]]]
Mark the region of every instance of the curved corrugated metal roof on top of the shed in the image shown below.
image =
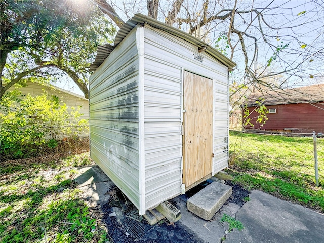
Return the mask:
[[[224,64],[228,68],[232,69],[236,66],[236,63],[221,54],[219,51],[217,51],[215,48],[210,46],[209,44],[201,41],[200,39],[183,32],[182,30],[179,30],[177,28],[174,28],[168,24],[159,22],[155,19],[152,19],[150,17],[147,17],[143,14],[135,14],[134,17],[130,20],[128,20],[118,31],[116,37],[114,46],[110,44],[105,45],[99,45],[97,49],[97,56],[95,61],[90,65],[90,70],[95,71],[101,63],[110,55],[112,50],[118,46],[118,44],[123,41],[123,39],[126,37],[126,35],[137,25],[137,24],[149,24],[150,26],[163,30],[171,35],[177,36],[181,39],[183,39],[186,42],[189,42],[198,48],[206,47],[205,52],[211,55],[213,58],[218,60],[220,63]]]

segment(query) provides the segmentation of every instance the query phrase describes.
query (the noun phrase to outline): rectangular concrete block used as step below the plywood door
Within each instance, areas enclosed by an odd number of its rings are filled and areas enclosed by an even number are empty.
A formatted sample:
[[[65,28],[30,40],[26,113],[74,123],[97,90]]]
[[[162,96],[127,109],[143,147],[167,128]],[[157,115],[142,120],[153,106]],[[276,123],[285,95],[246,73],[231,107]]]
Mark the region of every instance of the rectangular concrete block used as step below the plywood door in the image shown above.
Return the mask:
[[[187,208],[200,218],[210,220],[231,195],[231,186],[212,182],[187,200]]]

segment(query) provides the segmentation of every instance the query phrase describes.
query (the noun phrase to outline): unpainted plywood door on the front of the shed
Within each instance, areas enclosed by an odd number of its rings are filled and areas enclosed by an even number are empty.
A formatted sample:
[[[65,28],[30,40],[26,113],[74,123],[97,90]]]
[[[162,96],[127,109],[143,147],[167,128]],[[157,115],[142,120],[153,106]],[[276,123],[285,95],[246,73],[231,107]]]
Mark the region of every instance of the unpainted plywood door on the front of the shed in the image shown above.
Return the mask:
[[[184,72],[183,183],[186,188],[212,173],[213,81]]]

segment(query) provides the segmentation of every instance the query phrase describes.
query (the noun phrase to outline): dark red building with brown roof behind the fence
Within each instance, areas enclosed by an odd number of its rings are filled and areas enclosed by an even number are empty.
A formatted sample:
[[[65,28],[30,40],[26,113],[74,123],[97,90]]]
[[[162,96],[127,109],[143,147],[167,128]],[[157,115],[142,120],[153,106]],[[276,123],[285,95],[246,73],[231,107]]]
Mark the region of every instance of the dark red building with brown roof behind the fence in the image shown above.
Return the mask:
[[[266,123],[257,122],[256,108],[265,105]],[[250,118],[251,125],[245,129],[259,129],[273,132],[324,133],[324,84],[295,89],[265,91],[249,95],[245,105],[250,115],[242,117],[242,123]],[[243,108],[244,109],[244,108]],[[244,112],[242,112],[244,116]]]

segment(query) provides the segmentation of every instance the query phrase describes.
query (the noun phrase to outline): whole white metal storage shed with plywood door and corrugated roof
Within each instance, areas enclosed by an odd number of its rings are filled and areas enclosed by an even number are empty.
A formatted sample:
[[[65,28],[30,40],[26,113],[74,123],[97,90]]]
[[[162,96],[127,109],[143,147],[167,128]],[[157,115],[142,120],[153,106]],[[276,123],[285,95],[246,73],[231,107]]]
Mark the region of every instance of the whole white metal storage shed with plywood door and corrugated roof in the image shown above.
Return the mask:
[[[90,85],[91,158],[139,209],[227,167],[228,70],[199,39],[136,14],[98,48]]]

